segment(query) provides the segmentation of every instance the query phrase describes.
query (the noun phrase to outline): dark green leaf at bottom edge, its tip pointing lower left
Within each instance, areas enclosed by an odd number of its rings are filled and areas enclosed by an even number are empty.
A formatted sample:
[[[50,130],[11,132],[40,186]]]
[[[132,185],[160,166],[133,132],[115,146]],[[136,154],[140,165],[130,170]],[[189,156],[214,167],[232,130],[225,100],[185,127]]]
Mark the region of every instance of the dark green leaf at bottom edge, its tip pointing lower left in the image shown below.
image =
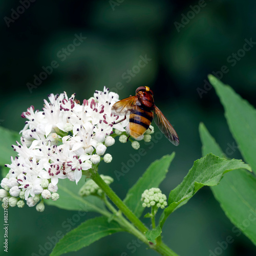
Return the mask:
[[[77,228],[68,232],[53,248],[51,256],[62,255],[70,251],[77,251],[110,234],[124,231],[120,225],[106,217],[97,217],[83,222]],[[102,248],[102,250],[104,250]]]

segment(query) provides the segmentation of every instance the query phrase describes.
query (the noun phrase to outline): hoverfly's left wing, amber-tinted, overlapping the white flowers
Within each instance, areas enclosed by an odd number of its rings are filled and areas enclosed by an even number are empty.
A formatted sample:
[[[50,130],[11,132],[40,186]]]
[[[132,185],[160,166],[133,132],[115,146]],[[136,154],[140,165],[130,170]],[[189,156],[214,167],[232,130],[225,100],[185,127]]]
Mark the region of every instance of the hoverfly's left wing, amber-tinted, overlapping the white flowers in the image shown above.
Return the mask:
[[[139,105],[138,97],[131,96],[117,101],[112,106],[111,112],[117,116],[130,115],[130,113],[133,113],[136,109],[136,105]]]

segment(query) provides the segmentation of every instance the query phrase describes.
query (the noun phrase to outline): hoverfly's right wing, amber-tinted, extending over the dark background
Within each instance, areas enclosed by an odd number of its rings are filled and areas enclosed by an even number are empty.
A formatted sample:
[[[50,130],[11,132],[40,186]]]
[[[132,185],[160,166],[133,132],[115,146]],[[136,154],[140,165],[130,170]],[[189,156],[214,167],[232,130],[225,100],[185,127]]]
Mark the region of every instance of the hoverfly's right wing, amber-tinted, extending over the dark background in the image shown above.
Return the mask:
[[[174,127],[170,122],[166,119],[160,109],[155,106],[154,112],[154,121],[156,122],[160,131],[165,135],[165,137],[172,142],[174,145],[178,146],[180,144],[179,137],[174,130]]]

